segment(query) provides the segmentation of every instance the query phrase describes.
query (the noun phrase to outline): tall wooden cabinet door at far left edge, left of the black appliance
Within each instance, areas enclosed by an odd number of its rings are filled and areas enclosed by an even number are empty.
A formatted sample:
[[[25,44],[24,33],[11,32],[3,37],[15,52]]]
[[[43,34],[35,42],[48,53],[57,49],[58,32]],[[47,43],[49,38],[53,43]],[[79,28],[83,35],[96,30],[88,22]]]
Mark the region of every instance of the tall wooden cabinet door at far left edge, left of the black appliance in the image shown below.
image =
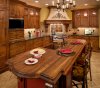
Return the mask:
[[[6,11],[0,10],[0,43],[6,42]]]

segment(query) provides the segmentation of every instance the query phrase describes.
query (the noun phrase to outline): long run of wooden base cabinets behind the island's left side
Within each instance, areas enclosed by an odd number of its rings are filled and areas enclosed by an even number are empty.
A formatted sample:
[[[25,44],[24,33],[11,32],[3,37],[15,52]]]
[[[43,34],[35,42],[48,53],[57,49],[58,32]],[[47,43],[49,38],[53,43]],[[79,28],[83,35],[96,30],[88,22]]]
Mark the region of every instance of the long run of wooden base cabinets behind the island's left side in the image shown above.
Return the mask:
[[[38,47],[47,47],[51,44],[51,38],[49,36],[40,37],[35,39],[23,40],[23,41],[11,41],[9,44],[9,57],[13,57],[24,51],[29,51]]]

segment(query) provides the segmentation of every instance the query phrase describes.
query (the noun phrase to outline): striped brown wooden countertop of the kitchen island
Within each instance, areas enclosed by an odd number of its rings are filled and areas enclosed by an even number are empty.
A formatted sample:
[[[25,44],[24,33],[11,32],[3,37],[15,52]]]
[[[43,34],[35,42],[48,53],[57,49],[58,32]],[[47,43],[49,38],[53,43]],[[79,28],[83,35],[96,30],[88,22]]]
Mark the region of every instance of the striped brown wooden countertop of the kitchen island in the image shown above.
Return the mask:
[[[67,75],[86,45],[85,40],[80,40],[83,44],[70,44],[74,40],[69,39],[68,44],[65,46],[65,48],[71,48],[75,52],[72,56],[60,56],[57,54],[57,50],[44,48],[46,53],[38,59],[39,61],[35,65],[24,63],[26,59],[32,56],[29,51],[9,59],[7,63],[10,70],[20,78],[41,78],[50,83],[56,83],[61,75]]]

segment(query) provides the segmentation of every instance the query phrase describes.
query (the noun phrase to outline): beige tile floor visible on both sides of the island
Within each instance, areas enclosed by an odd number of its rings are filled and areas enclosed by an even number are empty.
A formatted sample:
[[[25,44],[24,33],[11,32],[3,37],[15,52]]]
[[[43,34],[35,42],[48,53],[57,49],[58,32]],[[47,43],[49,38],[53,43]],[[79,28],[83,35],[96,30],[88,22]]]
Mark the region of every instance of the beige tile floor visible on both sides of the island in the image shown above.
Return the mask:
[[[92,53],[91,65],[92,81],[89,81],[88,75],[88,88],[100,88],[100,53]],[[10,71],[0,74],[0,88],[17,88],[17,77]]]

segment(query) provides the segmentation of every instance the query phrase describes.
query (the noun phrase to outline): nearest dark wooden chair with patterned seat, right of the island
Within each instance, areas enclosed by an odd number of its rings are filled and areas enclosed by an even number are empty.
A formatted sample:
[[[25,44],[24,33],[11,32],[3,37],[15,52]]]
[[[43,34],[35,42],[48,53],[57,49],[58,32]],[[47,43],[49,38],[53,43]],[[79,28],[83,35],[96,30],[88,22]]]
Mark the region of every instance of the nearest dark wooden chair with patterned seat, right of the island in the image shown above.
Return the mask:
[[[88,54],[84,56],[84,58],[80,58],[82,60],[78,60],[77,63],[73,66],[72,71],[72,84],[79,88],[78,85],[81,85],[82,88],[88,88],[87,85],[87,73],[88,73],[88,62],[87,62]]]

